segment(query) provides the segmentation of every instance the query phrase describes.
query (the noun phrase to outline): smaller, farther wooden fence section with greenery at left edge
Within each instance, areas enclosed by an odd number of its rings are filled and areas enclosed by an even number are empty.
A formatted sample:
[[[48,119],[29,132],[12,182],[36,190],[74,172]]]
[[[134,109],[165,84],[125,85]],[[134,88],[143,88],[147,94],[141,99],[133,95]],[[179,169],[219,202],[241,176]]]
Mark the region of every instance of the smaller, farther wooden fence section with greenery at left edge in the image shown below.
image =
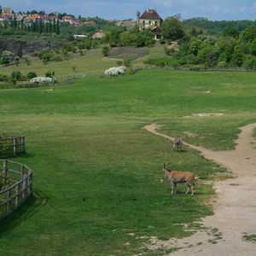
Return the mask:
[[[1,134],[0,154],[16,154],[21,152],[25,152],[25,136]]]

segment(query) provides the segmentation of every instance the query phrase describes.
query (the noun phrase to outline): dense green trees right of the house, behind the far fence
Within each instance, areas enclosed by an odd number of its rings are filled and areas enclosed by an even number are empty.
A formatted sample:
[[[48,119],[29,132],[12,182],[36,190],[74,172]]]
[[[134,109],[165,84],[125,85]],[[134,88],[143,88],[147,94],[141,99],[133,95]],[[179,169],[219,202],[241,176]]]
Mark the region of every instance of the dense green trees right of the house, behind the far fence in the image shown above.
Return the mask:
[[[170,60],[150,60],[148,64],[169,65],[202,65],[206,67],[256,67],[256,26],[248,26],[239,32],[229,27],[224,35],[214,37],[194,33],[187,34],[178,40],[179,50],[170,51]]]

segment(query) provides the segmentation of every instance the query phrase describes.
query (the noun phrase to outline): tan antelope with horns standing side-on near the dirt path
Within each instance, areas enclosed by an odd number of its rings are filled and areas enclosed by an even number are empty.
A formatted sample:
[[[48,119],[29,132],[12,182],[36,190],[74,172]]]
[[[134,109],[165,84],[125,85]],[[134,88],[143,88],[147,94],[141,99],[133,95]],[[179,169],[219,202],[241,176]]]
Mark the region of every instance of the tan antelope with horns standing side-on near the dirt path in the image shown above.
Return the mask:
[[[166,179],[170,180],[171,184],[172,184],[172,194],[173,194],[173,186],[175,186],[175,193],[176,191],[176,187],[177,187],[177,183],[185,183],[187,182],[189,185],[189,188],[186,192],[186,194],[188,194],[189,189],[192,188],[192,194],[194,195],[194,188],[195,188],[195,183],[194,178],[195,178],[195,174],[193,172],[179,172],[176,170],[168,170],[168,166],[171,163],[169,163],[167,166],[164,164],[164,168],[163,168],[163,172],[166,173]]]

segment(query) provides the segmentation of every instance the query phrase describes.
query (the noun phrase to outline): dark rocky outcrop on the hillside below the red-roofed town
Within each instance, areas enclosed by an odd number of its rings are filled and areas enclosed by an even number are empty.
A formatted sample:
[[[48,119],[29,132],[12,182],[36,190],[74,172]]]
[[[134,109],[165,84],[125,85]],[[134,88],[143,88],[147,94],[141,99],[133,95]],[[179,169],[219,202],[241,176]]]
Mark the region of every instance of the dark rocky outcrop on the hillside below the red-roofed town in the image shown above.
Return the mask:
[[[0,38],[0,55],[3,50],[11,51],[15,56],[31,55],[33,52],[41,52],[45,48],[54,50],[61,47],[61,43],[47,43],[44,40],[23,41],[16,38]]]

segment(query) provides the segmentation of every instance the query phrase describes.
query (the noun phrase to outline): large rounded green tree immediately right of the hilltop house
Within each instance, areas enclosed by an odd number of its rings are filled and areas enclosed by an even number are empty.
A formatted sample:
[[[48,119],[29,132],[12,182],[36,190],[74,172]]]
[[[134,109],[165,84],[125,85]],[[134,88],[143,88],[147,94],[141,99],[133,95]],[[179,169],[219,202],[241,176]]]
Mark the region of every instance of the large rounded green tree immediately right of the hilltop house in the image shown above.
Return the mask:
[[[167,17],[161,25],[163,36],[166,39],[177,40],[185,35],[182,23],[177,16]]]

